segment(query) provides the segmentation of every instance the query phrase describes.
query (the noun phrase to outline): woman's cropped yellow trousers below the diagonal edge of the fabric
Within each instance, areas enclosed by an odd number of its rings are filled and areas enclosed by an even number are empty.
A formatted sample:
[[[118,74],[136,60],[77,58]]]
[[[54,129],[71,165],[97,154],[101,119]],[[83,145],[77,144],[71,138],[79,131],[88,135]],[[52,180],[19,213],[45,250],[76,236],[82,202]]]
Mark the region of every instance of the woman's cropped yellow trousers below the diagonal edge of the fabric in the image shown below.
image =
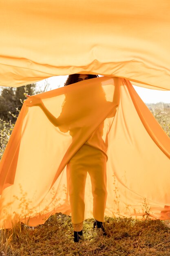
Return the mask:
[[[84,144],[67,164],[71,216],[75,231],[82,230],[87,172],[92,184],[93,216],[98,221],[104,221],[107,198],[106,161],[106,155],[101,150]]]

